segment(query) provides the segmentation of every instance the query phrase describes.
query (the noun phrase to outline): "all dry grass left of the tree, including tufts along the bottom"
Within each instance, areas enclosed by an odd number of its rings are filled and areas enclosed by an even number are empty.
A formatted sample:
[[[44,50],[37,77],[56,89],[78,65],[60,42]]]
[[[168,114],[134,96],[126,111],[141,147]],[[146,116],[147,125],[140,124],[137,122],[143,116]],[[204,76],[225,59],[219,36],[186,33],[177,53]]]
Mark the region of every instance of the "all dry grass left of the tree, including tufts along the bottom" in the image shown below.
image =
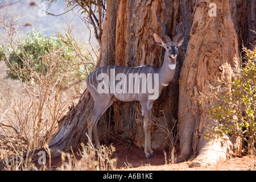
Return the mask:
[[[74,47],[79,49],[79,47]],[[114,169],[115,159],[110,159],[114,147],[101,146],[94,149],[96,155],[89,158],[88,148],[82,145],[78,154],[61,154],[62,163],[51,167],[51,154],[47,143],[57,131],[57,122],[67,114],[69,107],[78,102],[85,89],[85,82],[78,81],[63,70],[77,69],[77,64],[63,64],[61,48],[42,56],[47,63],[45,75],[30,67],[30,60],[23,64],[34,76],[32,79],[10,80],[6,78],[7,67],[0,62],[0,160],[5,170],[109,170]],[[81,52],[80,57],[81,57]],[[6,63],[9,60],[6,59]],[[59,67],[62,64],[65,67]],[[84,64],[86,71],[88,65]],[[19,70],[16,70],[19,76]],[[64,84],[63,84],[64,83]],[[68,83],[68,84],[65,84]],[[65,85],[65,86],[63,86]],[[49,165],[41,165],[31,160],[36,148],[45,148]],[[27,153],[24,157],[24,152]]]

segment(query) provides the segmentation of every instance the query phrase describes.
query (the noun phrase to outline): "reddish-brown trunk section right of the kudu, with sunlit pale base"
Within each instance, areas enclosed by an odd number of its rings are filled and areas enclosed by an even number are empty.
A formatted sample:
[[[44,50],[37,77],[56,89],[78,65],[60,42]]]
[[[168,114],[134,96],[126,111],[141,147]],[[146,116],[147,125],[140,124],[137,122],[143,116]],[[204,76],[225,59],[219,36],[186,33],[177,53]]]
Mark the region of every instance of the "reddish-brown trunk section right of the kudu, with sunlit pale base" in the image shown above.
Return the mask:
[[[216,3],[217,16],[209,16],[209,3]],[[199,93],[207,96],[217,79],[226,83],[234,78],[233,71],[239,67],[237,58],[238,40],[232,22],[231,6],[226,1],[199,1],[195,5],[193,24],[188,43],[187,55],[180,73],[179,93],[179,139],[178,161],[191,154],[199,154],[191,166],[213,164],[225,159],[228,144],[221,140],[206,140],[204,123],[211,123],[208,112],[199,104]],[[214,155],[213,155],[214,154]]]

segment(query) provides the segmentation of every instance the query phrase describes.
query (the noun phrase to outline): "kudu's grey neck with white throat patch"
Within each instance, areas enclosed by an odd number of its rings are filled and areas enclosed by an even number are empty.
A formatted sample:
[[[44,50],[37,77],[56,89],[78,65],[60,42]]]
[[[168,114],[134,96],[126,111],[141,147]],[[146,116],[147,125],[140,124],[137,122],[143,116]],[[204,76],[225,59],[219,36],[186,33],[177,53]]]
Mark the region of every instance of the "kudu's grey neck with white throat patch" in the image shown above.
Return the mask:
[[[176,68],[176,58],[171,59],[167,56],[167,52],[164,54],[164,61],[162,66],[158,69],[159,71],[159,85],[166,86],[174,78]]]

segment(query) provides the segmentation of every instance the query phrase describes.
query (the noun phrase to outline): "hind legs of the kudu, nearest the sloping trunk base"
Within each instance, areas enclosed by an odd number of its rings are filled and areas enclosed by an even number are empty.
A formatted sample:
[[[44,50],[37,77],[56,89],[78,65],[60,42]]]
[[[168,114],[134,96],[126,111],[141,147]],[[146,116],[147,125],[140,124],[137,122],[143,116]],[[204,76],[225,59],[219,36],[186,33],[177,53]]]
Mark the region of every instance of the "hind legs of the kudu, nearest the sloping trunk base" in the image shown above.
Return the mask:
[[[96,147],[100,146],[100,140],[98,138],[98,132],[97,132],[98,119],[100,119],[102,114],[104,114],[105,111],[109,108],[109,106],[113,104],[113,101],[114,101],[113,98],[110,98],[110,100],[94,102],[93,111],[87,119],[88,137],[90,139],[89,145],[91,145],[91,142],[92,142],[92,131],[93,131]]]

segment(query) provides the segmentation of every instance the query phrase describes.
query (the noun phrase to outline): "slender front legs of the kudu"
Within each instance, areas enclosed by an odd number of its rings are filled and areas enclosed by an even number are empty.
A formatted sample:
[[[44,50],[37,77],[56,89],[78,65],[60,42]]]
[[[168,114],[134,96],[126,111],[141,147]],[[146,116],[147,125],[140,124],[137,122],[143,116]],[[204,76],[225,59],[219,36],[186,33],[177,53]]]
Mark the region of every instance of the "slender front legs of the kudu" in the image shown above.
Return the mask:
[[[147,102],[142,102],[141,108],[142,108],[142,116],[143,116],[144,135],[145,135],[144,153],[146,155],[146,158],[150,159],[150,154],[154,155],[154,152],[152,151],[152,148],[151,148],[151,131],[150,131],[152,104],[148,105]]]

